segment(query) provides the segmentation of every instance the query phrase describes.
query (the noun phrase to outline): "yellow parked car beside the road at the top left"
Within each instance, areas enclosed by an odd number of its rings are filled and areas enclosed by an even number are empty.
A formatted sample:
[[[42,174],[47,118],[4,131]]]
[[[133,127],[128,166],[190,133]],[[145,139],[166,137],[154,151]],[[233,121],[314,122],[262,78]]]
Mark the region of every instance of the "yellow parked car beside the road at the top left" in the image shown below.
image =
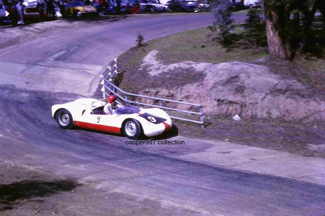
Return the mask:
[[[67,16],[75,16],[75,17],[81,17],[86,14],[89,15],[97,15],[97,11],[94,6],[87,6],[83,2],[79,1],[73,1],[73,2],[67,2],[66,5],[64,5],[66,10]]]

